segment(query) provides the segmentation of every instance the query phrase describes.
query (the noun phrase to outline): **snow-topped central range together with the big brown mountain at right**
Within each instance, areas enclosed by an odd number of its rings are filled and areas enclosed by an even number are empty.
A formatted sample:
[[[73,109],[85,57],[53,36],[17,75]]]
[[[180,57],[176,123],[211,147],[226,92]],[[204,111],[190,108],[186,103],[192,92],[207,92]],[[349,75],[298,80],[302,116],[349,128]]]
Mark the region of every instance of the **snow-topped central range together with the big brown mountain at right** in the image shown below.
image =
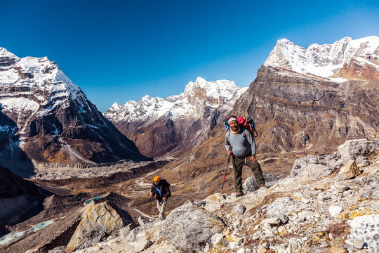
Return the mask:
[[[191,150],[230,114],[255,119],[260,153],[328,152],[378,136],[378,79],[379,37],[308,48],[280,39],[247,90],[199,77],[179,96],[114,103],[105,117],[144,155]]]

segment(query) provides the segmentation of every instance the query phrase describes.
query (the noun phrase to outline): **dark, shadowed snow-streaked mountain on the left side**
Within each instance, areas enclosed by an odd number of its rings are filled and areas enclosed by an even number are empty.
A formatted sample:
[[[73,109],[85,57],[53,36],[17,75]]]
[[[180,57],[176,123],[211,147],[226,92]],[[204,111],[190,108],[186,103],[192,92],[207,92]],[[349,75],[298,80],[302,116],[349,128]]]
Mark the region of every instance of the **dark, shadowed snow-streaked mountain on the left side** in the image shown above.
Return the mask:
[[[48,58],[0,48],[0,163],[110,162],[142,157]],[[33,165],[31,165],[33,167]]]

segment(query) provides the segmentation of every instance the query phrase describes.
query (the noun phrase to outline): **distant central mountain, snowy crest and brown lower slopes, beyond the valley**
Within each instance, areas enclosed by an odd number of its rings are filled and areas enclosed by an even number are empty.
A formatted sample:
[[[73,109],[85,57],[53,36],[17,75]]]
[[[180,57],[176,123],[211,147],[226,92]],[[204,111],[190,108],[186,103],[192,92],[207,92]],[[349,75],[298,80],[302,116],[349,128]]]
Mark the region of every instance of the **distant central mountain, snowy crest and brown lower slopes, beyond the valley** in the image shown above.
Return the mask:
[[[201,142],[205,134],[232,110],[246,89],[232,81],[207,82],[197,77],[179,95],[168,98],[145,96],[124,105],[114,103],[105,112],[105,117],[135,141],[142,154],[165,155],[168,151]],[[156,129],[151,133],[155,137],[147,134],[152,129]]]

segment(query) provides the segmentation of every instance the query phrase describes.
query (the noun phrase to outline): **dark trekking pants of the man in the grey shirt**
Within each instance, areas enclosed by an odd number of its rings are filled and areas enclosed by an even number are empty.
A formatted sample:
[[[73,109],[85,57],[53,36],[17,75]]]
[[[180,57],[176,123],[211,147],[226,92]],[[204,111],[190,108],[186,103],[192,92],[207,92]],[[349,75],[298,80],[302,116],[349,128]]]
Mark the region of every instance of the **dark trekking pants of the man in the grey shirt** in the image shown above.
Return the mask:
[[[236,192],[242,193],[242,167],[244,164],[251,168],[251,171],[254,173],[255,181],[257,182],[257,186],[261,186],[265,183],[265,178],[262,174],[262,169],[260,169],[260,164],[258,162],[251,162],[251,155],[245,158],[233,157],[232,164],[234,169],[234,186],[236,186]]]

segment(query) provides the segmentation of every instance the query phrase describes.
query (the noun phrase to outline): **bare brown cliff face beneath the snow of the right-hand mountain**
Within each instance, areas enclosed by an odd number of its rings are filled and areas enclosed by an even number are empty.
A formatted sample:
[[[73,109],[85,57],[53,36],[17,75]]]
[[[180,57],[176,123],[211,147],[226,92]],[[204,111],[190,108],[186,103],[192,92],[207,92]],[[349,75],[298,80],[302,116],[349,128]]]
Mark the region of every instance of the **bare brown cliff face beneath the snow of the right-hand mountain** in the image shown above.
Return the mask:
[[[378,137],[378,80],[331,82],[262,66],[234,106],[258,124],[260,153],[333,150]]]

